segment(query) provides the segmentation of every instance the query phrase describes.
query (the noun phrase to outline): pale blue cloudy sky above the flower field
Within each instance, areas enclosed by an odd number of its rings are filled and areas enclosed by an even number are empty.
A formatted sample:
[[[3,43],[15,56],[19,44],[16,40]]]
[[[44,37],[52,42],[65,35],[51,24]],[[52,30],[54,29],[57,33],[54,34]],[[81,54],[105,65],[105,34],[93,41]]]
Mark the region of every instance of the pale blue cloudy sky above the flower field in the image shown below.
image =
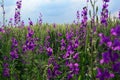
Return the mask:
[[[6,19],[14,17],[17,0],[4,0]],[[1,0],[0,0],[1,2]],[[120,10],[120,0],[110,0],[109,11],[116,14]],[[28,18],[36,22],[42,13],[44,23],[72,23],[76,19],[76,11],[81,11],[86,6],[86,0],[22,0],[21,18],[28,23]],[[99,13],[102,8],[102,0],[98,0]],[[91,7],[89,6],[89,9]],[[2,21],[2,9],[0,8],[0,21]]]

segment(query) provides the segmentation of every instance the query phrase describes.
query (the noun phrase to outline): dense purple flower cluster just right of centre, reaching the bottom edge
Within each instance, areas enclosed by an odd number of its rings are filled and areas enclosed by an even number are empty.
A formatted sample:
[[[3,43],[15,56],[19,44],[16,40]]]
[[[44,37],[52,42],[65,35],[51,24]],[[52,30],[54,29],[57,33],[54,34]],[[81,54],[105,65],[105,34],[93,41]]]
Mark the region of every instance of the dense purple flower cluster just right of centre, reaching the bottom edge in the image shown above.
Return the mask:
[[[71,30],[66,33],[66,43],[64,39],[61,40],[61,50],[65,51],[63,54],[63,59],[65,60],[64,65],[68,68],[67,80],[74,78],[74,76],[79,74],[79,53],[77,48],[79,47],[78,37],[74,38],[74,32]]]

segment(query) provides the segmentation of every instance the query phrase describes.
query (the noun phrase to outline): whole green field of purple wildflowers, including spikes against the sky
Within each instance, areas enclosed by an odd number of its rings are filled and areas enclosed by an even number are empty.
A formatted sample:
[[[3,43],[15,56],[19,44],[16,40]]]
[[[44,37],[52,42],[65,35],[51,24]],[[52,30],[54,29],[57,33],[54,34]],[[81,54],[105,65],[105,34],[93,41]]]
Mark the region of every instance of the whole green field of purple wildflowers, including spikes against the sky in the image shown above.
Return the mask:
[[[0,80],[120,80],[120,12],[112,19],[103,0],[99,18],[94,1],[71,24],[29,26],[18,1],[14,25],[0,27]]]

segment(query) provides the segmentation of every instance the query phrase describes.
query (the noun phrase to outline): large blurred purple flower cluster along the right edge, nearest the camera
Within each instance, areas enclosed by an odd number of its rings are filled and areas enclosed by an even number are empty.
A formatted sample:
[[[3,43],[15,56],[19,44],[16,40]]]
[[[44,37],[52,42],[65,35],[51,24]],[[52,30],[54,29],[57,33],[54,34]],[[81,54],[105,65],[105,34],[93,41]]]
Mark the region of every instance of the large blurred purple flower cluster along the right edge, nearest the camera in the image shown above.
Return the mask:
[[[100,44],[106,46],[105,52],[102,53],[100,65],[106,65],[104,68],[98,68],[97,78],[100,80],[110,79],[120,74],[120,25],[112,28],[110,36],[100,33]]]

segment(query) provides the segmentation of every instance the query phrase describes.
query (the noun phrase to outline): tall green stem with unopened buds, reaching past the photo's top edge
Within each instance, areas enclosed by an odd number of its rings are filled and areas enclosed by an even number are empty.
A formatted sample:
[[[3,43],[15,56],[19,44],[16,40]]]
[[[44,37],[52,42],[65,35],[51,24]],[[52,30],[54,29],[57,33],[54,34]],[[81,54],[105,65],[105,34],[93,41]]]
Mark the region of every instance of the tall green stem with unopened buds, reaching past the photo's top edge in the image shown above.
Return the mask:
[[[95,75],[94,75],[94,61],[95,61],[95,57],[96,57],[96,55],[94,54],[94,52],[95,52],[95,47],[94,47],[94,44],[95,44],[95,42],[96,42],[96,39],[94,39],[95,38],[95,34],[94,34],[94,32],[96,32],[96,30],[94,31],[94,28],[96,28],[96,22],[97,22],[97,19],[96,19],[96,21],[95,21],[95,18],[97,18],[97,11],[98,11],[98,9],[97,9],[97,7],[96,7],[96,0],[90,0],[90,3],[91,3],[91,6],[92,6],[92,12],[93,12],[93,14],[92,14],[92,16],[91,16],[91,44],[90,44],[90,46],[91,46],[91,49],[90,49],[90,56],[91,56],[91,78],[92,78],[92,80],[95,80]],[[95,40],[95,41],[94,41]]]

